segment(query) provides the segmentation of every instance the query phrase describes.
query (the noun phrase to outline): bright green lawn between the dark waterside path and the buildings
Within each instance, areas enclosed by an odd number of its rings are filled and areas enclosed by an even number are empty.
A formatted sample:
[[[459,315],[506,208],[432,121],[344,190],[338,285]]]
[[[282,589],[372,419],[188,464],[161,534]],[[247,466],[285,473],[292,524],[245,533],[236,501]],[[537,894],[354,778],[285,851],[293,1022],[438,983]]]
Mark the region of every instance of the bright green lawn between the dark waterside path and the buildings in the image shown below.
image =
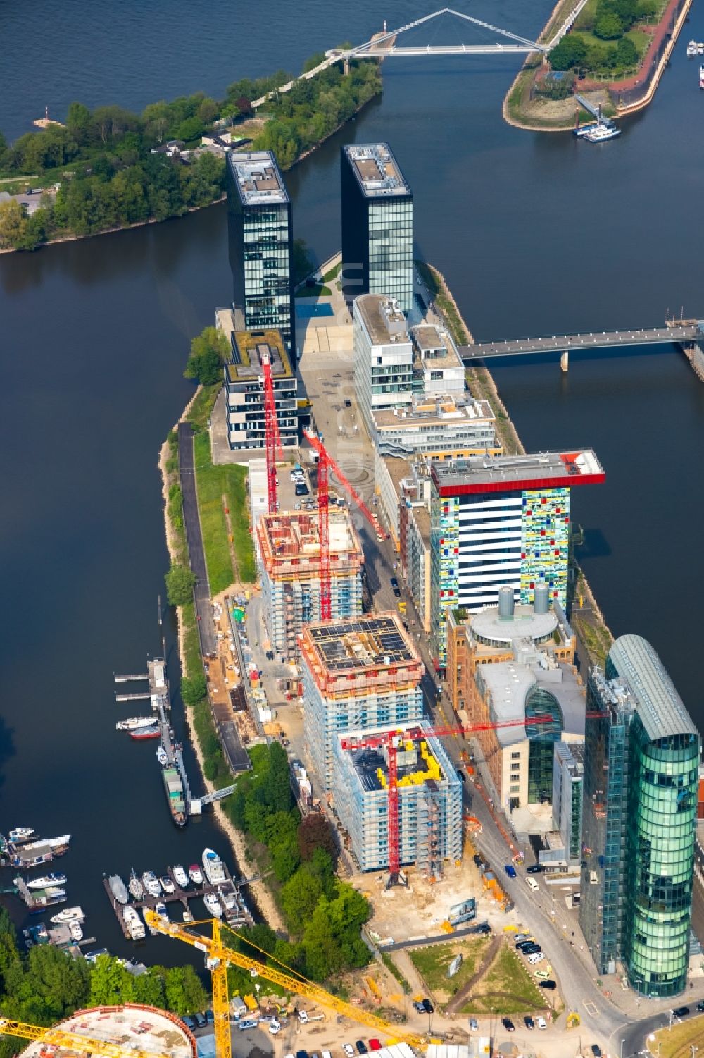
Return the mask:
[[[251,583],[255,578],[254,548],[246,505],[247,471],[245,467],[236,464],[214,467],[210,459],[210,436],[207,431],[197,434],[193,438],[193,458],[205,563],[210,591],[212,595],[218,595],[235,580],[223,495],[226,496],[233,524],[240,580]]]

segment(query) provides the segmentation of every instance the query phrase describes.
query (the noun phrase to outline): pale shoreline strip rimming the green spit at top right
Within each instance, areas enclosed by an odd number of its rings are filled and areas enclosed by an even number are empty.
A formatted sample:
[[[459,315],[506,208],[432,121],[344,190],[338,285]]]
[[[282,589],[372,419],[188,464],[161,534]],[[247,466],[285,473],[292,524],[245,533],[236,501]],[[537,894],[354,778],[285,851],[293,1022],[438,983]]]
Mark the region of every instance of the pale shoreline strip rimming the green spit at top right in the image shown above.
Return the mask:
[[[600,107],[609,117],[625,117],[649,106],[655,95],[674,44],[684,26],[692,0],[670,0],[652,32],[652,40],[635,74],[625,80],[595,84],[586,81],[579,94],[593,107]],[[538,37],[543,43],[551,39],[562,17],[573,10],[573,0],[559,0]],[[569,31],[572,32],[572,31]],[[514,78],[502,106],[506,124],[534,132],[566,132],[574,128],[575,113],[579,121],[592,115],[580,108],[573,95],[564,99],[534,98],[533,90],[543,65],[542,56],[529,55]]]

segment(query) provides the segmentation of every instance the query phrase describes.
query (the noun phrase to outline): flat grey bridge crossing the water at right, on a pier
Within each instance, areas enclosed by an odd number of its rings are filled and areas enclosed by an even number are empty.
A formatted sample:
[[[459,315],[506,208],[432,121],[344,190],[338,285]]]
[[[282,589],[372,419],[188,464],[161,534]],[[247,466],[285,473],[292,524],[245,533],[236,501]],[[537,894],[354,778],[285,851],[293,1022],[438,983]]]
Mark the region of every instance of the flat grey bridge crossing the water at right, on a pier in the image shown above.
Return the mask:
[[[553,334],[544,338],[510,339],[506,342],[479,342],[459,346],[465,361],[495,357],[525,357],[540,352],[579,352],[587,349],[618,349],[632,345],[690,344],[704,338],[704,321],[671,320],[665,327],[651,330],[597,331],[589,334]]]

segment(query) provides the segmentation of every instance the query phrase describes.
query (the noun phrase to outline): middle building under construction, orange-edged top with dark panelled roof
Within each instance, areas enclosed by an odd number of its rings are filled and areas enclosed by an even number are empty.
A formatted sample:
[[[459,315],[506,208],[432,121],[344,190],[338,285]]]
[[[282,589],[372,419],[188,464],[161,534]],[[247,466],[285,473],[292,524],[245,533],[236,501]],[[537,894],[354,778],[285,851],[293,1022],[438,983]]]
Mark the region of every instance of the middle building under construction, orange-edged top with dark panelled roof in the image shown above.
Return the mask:
[[[423,716],[418,650],[395,614],[374,614],[303,627],[303,730],[325,788],[333,787],[338,734],[413,726]]]

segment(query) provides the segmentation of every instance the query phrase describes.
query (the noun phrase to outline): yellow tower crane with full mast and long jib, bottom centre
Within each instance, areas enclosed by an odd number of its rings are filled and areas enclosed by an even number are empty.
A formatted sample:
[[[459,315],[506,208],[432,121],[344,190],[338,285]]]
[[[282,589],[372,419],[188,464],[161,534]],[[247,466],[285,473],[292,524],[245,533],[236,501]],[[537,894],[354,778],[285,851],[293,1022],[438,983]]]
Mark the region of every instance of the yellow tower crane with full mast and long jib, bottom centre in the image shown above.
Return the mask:
[[[341,1014],[347,1018],[351,1018],[352,1021],[368,1025],[370,1028],[375,1028],[385,1036],[393,1037],[394,1040],[404,1041],[415,1047],[422,1047],[424,1044],[423,1037],[418,1036],[415,1033],[400,1032],[394,1025],[390,1025],[387,1021],[384,1021],[383,1018],[377,1018],[375,1014],[371,1014],[369,1010],[362,1010],[356,1006],[352,1006],[351,1003],[345,1003],[344,1000],[331,996],[325,988],[313,984],[312,981],[308,981],[301,974],[292,977],[296,971],[284,966],[283,963],[279,963],[281,969],[277,969],[274,966],[268,966],[266,963],[260,963],[256,959],[251,959],[248,955],[243,955],[233,948],[228,948],[223,943],[222,927],[217,918],[192,923],[192,926],[211,925],[212,936],[209,937],[203,933],[191,932],[191,929],[185,929],[179,923],[168,922],[154,911],[148,911],[146,908],[144,916],[147,925],[152,929],[160,933],[165,933],[167,936],[175,937],[178,941],[184,941],[186,944],[190,944],[193,948],[198,948],[199,951],[205,953],[205,965],[212,974],[212,1013],[215,1015],[217,1058],[231,1058],[229,1000],[227,996],[228,965],[239,966],[241,969],[249,970],[251,972],[254,971],[259,977],[264,978],[266,981],[272,981],[274,984],[281,985],[281,987],[296,996],[304,996],[307,999],[319,1003],[320,1006],[335,1010],[336,1014]],[[227,928],[229,929],[229,927]],[[240,937],[249,947],[257,947],[236,930],[230,929],[229,932],[234,936]],[[264,951],[262,951],[262,955],[265,959],[271,957]]]

